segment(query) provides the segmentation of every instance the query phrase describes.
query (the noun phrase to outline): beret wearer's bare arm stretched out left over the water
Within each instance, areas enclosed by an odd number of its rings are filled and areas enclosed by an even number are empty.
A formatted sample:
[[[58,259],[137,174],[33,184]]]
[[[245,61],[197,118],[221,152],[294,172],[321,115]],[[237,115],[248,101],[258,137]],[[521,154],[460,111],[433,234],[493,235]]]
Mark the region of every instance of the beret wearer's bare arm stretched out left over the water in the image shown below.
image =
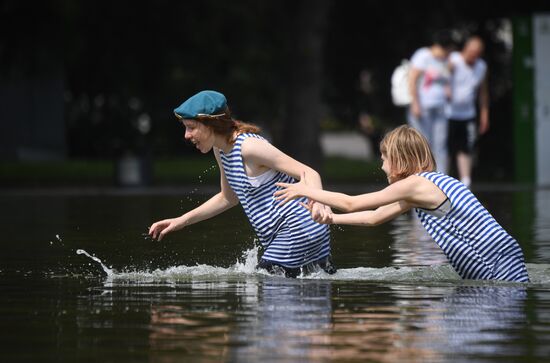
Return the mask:
[[[218,151],[214,150],[214,154],[220,168],[221,191],[197,208],[180,217],[164,219],[154,223],[149,228],[149,235],[151,235],[154,239],[158,238],[160,241],[167,233],[177,231],[191,224],[212,218],[239,203],[237,196],[227,182],[227,178],[225,177],[225,173],[221,167]]]

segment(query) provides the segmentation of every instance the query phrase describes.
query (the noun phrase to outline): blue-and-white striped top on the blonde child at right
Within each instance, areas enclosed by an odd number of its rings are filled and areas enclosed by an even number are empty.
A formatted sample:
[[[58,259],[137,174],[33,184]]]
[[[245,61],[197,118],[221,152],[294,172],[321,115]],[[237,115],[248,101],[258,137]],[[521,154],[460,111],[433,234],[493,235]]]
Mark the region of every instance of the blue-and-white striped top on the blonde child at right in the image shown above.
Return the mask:
[[[462,278],[529,281],[518,242],[464,184],[437,172],[418,175],[439,187],[450,202],[444,215],[420,208],[416,208],[416,213]]]

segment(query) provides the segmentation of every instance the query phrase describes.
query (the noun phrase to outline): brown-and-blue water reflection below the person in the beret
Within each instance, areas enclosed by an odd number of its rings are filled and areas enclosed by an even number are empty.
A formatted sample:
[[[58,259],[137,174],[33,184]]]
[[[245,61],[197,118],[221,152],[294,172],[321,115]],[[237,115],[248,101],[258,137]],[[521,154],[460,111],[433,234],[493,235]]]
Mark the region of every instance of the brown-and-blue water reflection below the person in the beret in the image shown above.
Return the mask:
[[[215,289],[205,294],[207,285]],[[236,306],[226,306],[231,312],[212,311],[212,306],[206,305],[202,309],[154,305],[150,345],[156,351],[155,359],[166,360],[175,350],[187,357],[230,361],[312,358],[317,346],[328,345],[330,281],[250,279],[225,288],[219,283],[193,283],[189,298],[194,304],[200,305],[202,300],[216,305],[228,290],[238,296]]]

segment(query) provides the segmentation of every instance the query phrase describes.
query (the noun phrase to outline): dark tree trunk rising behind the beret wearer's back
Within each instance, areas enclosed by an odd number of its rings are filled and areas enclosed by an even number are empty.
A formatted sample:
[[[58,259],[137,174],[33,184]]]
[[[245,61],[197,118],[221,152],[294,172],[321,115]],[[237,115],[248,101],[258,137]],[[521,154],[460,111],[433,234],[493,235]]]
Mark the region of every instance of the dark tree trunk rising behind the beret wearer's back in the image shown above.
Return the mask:
[[[324,30],[330,0],[289,2],[286,52],[286,92],[279,130],[281,148],[316,169],[321,165],[319,144],[323,112]]]

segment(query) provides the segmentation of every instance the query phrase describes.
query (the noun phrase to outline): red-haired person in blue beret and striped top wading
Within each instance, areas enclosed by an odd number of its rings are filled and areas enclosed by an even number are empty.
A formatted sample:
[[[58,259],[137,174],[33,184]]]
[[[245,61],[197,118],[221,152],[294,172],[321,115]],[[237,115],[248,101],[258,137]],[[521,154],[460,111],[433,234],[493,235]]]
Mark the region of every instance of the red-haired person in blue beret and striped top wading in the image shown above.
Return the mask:
[[[240,203],[264,247],[258,268],[287,277],[319,269],[336,272],[329,228],[314,221],[328,218],[330,209],[315,203],[312,216],[299,204],[306,203],[305,198],[280,205],[273,197],[276,183],[294,183],[302,171],[309,186],[322,188],[319,173],[271,145],[259,135],[259,127],[234,120],[219,92],[199,92],[174,113],[185,126],[186,140],[202,153],[214,150],[221,191],[182,216],[154,223],[149,229],[153,238],[161,240]]]

